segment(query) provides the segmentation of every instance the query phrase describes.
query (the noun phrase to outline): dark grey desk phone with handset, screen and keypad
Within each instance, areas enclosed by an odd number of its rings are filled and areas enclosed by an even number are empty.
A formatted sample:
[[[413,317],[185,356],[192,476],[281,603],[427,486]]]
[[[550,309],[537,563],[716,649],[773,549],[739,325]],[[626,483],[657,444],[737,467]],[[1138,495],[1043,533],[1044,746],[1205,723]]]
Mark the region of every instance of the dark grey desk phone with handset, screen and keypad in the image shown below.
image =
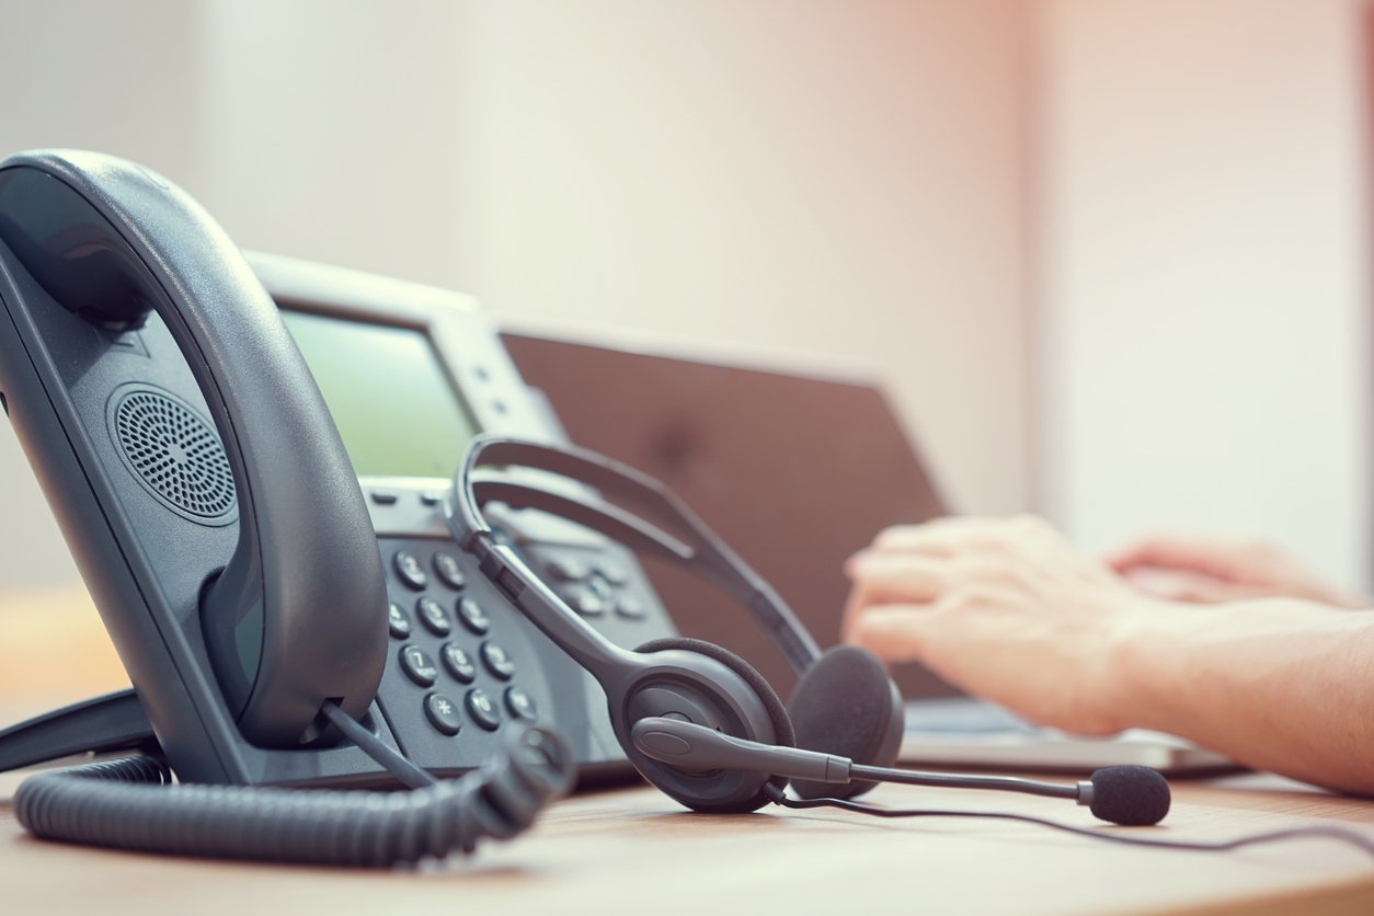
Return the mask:
[[[245,260],[161,176],[43,151],[0,163],[0,400],[183,781],[392,780],[326,705],[438,775],[522,721],[584,777],[629,770],[591,678],[444,525],[471,437],[561,437],[470,299]],[[675,634],[627,549],[500,530],[613,641]]]

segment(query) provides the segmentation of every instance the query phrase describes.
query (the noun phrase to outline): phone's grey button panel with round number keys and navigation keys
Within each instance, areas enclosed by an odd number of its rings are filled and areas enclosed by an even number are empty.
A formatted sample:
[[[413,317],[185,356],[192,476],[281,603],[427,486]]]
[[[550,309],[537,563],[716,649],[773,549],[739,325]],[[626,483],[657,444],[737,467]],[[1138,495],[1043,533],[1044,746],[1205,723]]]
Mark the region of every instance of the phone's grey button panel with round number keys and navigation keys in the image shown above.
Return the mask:
[[[386,511],[408,504],[418,507],[418,492],[403,492],[400,504]],[[647,581],[620,553],[580,544],[511,545],[613,641],[631,647],[662,634],[665,621]],[[394,643],[378,703],[416,764],[442,775],[460,772],[496,751],[508,722],[605,715],[594,687],[570,689],[567,674],[551,676],[556,650],[452,540],[383,536],[381,548],[394,603],[387,607]],[[555,560],[563,578],[555,580]],[[572,666],[566,658],[556,665]],[[595,737],[570,728],[580,759],[614,761],[609,724]]]

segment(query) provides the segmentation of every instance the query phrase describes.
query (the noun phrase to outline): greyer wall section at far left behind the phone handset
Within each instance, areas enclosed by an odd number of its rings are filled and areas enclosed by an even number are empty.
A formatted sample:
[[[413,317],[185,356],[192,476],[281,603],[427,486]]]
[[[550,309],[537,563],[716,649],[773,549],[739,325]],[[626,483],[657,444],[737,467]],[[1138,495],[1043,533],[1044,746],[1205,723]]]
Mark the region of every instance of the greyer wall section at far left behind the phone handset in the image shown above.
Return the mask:
[[[0,151],[103,150],[202,184],[195,23],[194,5],[179,0],[0,3]],[[76,577],[0,419],[0,589]]]

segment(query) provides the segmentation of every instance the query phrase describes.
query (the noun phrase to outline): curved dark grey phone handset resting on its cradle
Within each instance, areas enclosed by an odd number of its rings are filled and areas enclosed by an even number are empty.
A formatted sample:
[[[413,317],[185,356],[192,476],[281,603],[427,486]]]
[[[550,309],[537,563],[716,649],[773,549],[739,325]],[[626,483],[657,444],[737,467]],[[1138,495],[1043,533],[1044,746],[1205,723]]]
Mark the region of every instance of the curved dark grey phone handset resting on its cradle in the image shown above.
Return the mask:
[[[357,478],[276,305],[214,220],[113,157],[0,163],[0,240],[96,324],[166,323],[234,474],[239,540],[201,623],[221,691],[256,744],[298,746],[323,705],[352,717],[386,662],[386,588]]]

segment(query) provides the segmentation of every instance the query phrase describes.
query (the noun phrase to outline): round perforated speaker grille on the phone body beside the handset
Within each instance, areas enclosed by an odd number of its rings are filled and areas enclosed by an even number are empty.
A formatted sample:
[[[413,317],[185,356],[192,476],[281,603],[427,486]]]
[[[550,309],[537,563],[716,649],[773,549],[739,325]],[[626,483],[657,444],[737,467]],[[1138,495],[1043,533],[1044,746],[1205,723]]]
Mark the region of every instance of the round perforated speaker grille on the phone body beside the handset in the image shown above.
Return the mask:
[[[131,386],[110,405],[110,431],[133,477],[169,509],[225,525],[238,503],[234,472],[214,427],[179,397]]]

